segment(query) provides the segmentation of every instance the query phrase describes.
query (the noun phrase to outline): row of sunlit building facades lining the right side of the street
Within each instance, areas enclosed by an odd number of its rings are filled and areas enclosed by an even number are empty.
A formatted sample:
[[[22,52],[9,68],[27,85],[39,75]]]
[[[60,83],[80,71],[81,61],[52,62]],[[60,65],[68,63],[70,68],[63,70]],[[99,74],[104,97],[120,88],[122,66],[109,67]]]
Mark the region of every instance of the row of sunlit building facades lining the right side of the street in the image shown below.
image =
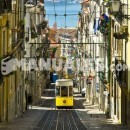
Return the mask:
[[[91,84],[84,83],[87,100],[97,101],[99,109],[109,117],[129,125],[129,2],[118,1],[121,15],[112,10],[116,2],[84,0],[81,3],[78,42],[83,46],[82,53],[91,57],[96,67]],[[117,70],[119,66],[126,68]],[[84,76],[89,78],[87,71]]]

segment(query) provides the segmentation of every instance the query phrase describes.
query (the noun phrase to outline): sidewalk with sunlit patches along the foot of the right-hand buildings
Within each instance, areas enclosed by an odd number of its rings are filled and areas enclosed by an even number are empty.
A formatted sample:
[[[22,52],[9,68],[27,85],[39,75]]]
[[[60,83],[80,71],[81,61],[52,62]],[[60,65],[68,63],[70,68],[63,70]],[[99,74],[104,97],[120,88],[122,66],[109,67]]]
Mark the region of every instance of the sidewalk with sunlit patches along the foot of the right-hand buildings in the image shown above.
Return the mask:
[[[86,102],[86,98],[82,97],[78,92],[78,88],[74,88],[74,96],[79,96],[79,100],[83,103],[85,109],[77,111],[80,120],[87,130],[129,130],[126,126],[122,126],[116,119],[108,119],[106,114],[99,110],[98,104],[92,105]]]

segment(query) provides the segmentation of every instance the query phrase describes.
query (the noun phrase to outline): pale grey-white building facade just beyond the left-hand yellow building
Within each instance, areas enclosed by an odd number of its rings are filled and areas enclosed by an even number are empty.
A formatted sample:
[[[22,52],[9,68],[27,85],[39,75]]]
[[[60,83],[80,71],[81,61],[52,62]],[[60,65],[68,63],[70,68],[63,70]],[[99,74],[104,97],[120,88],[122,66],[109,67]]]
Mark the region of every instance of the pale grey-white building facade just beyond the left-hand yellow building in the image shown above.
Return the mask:
[[[46,61],[49,48],[47,21],[43,1],[25,3],[25,55],[27,60],[25,68],[25,89],[28,104],[32,105],[40,101],[41,94],[46,87],[47,72],[41,67],[40,58]],[[29,59],[29,60],[28,60]],[[29,65],[32,63],[31,66]],[[36,70],[38,69],[38,70]],[[42,69],[42,70],[40,70]]]

